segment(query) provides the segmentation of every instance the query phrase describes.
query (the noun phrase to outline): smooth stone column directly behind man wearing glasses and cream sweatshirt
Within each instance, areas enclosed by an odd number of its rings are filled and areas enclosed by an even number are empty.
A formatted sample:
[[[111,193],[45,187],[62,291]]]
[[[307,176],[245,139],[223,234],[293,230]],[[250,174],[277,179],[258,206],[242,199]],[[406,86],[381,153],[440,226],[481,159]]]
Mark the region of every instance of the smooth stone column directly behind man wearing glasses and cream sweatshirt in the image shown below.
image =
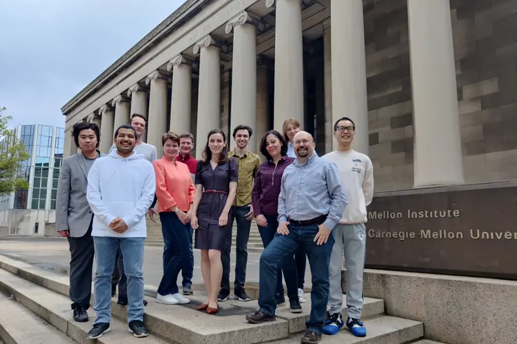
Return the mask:
[[[368,154],[363,1],[332,0],[332,122],[347,116],[356,124],[354,150]],[[334,128],[332,128],[334,131]],[[336,149],[337,142],[333,140]]]

